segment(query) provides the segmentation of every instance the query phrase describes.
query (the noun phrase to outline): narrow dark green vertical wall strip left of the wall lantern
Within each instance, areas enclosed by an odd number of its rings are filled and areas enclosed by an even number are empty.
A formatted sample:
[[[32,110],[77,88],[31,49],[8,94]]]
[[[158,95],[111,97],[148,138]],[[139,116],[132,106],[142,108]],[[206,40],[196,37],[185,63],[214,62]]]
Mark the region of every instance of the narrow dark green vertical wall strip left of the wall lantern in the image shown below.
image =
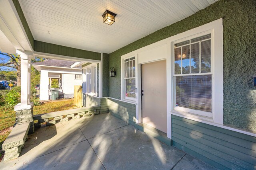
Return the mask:
[[[108,97],[108,79],[109,79],[109,67],[108,67],[109,55],[103,53],[102,57],[102,97]]]

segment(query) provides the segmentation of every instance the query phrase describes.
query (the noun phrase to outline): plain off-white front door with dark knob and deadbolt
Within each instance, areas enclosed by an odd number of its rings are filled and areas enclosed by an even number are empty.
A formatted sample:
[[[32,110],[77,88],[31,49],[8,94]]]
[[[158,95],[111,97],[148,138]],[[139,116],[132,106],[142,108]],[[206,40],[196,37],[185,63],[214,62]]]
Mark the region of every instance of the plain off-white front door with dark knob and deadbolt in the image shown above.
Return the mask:
[[[141,65],[142,123],[167,133],[166,60]]]

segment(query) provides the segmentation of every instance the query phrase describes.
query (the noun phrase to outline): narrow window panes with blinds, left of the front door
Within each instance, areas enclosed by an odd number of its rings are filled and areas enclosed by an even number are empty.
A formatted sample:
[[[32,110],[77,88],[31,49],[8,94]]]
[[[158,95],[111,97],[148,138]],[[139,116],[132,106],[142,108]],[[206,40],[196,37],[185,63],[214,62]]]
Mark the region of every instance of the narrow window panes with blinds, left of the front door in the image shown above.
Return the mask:
[[[124,60],[124,98],[135,98],[135,57]]]

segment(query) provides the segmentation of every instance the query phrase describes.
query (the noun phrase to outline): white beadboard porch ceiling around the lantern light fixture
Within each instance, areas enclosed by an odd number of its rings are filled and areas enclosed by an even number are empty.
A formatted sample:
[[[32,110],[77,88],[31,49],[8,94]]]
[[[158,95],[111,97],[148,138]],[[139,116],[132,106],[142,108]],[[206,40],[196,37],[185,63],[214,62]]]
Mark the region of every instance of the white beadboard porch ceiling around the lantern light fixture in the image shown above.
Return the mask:
[[[111,53],[217,0],[19,1],[34,39]],[[113,25],[103,23],[105,10],[117,14]]]

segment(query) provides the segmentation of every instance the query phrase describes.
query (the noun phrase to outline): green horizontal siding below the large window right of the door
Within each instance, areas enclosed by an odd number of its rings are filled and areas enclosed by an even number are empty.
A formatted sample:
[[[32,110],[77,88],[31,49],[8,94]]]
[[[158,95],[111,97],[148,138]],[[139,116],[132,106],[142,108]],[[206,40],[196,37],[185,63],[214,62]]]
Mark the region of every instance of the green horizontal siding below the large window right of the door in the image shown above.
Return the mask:
[[[256,169],[256,137],[172,115],[172,141],[216,168]]]

